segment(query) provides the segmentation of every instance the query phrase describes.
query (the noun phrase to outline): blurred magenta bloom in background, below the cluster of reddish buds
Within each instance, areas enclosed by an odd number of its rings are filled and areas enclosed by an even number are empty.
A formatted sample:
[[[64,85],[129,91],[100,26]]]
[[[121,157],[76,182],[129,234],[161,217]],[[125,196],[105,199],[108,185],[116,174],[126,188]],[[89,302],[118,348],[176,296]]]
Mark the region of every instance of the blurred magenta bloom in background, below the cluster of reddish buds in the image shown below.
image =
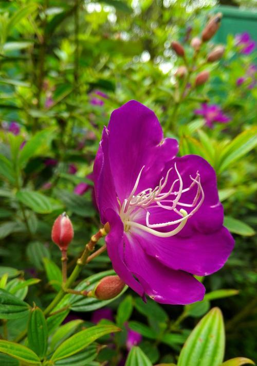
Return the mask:
[[[231,120],[216,104],[208,105],[207,103],[203,103],[201,104],[201,109],[195,109],[194,113],[203,116],[205,118],[205,123],[210,128],[213,127],[214,122],[227,123]]]

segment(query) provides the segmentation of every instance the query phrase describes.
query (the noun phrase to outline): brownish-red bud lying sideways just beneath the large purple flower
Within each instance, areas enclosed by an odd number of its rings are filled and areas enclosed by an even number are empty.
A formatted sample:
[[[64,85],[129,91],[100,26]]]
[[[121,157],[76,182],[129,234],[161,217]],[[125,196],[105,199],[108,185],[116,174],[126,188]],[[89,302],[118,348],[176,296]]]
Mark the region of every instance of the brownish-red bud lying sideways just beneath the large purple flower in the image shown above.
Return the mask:
[[[99,300],[113,299],[123,290],[125,283],[119,276],[104,277],[95,288],[95,297]]]

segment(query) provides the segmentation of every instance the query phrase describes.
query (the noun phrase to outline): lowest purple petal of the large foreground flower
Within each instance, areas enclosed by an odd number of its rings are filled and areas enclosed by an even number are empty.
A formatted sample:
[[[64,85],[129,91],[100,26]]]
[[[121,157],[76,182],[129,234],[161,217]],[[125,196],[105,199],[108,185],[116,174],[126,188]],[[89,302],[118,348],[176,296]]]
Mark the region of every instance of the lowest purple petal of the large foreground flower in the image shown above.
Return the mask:
[[[191,274],[170,269],[147,255],[135,237],[124,235],[125,263],[152,299],[164,304],[203,300],[205,287]]]

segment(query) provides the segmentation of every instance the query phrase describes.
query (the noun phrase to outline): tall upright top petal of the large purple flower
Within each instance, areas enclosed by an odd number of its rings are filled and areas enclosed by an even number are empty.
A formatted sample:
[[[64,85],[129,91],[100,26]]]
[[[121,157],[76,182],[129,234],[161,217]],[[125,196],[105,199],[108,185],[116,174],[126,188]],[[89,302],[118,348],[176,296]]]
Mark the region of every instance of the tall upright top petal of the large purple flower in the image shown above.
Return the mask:
[[[109,160],[117,196],[127,198],[143,166],[138,192],[155,186],[164,164],[176,156],[177,141],[164,139],[151,109],[134,100],[116,109],[108,124]],[[153,174],[154,172],[154,174]]]

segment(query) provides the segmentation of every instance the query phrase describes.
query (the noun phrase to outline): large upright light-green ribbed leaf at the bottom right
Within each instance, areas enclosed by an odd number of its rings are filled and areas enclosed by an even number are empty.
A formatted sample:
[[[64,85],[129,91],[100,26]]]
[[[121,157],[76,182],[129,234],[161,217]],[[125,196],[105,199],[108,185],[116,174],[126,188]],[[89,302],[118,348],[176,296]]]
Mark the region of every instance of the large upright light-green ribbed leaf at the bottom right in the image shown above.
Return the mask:
[[[214,307],[199,321],[180,352],[177,366],[219,366],[224,357],[225,331],[221,310]]]

